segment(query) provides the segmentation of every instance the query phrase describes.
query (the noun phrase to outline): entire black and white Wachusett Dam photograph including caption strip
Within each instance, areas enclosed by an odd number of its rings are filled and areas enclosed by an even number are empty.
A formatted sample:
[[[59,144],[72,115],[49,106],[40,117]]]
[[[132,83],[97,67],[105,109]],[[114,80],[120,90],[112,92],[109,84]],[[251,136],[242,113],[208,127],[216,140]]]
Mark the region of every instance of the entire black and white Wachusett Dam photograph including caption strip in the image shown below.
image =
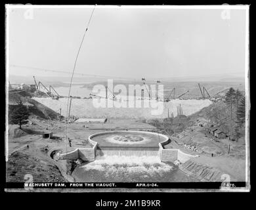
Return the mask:
[[[249,5],[5,5],[5,75],[7,192],[251,189]]]

